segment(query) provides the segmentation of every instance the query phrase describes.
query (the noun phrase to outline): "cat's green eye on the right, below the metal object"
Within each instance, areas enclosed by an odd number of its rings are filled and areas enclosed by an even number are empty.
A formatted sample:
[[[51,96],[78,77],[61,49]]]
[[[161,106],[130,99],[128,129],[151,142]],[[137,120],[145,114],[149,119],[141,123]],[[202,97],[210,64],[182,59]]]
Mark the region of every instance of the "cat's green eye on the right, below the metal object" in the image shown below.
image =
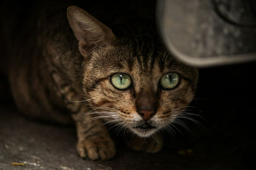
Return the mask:
[[[173,89],[179,83],[179,75],[177,73],[163,74],[160,80],[160,84],[163,89]]]

